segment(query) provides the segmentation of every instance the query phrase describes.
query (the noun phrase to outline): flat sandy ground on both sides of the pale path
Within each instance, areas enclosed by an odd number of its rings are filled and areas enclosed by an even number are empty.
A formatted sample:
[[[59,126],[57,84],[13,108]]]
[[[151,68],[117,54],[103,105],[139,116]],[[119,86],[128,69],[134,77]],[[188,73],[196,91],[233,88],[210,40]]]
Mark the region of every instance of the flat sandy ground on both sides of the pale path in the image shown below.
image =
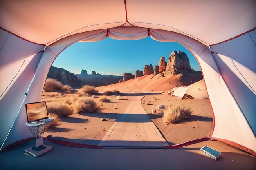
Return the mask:
[[[130,94],[123,94],[123,98],[126,100],[118,100],[117,96],[108,96],[111,102],[103,103],[98,113],[73,114],[69,117],[61,117],[59,124],[45,132],[45,136],[52,135],[54,139],[98,145],[111,126],[121,117],[122,113],[125,113],[125,110],[137,96],[145,96],[138,102],[141,102],[149,118],[170,145],[211,135],[213,114],[208,99],[181,100],[161,93],[162,91],[130,92]],[[61,103],[71,95],[73,94],[44,92],[42,101]],[[152,97],[156,99],[152,99]],[[97,101],[98,98],[94,98],[94,100]],[[147,105],[146,103],[149,100],[151,101],[150,105]],[[189,106],[193,113],[190,118],[184,119],[178,124],[166,124],[163,123],[161,112],[160,114],[151,113],[151,110],[157,109],[159,104],[166,106],[168,104],[182,104]],[[101,118],[110,120],[101,121]]]

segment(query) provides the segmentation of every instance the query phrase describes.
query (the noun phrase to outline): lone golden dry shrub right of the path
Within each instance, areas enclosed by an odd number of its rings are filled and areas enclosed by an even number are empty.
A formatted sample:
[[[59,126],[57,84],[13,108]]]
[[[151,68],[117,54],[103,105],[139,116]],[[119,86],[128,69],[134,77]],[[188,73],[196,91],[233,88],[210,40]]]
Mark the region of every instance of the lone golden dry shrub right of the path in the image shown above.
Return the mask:
[[[164,123],[174,124],[190,117],[191,114],[192,110],[186,106],[170,105],[164,109],[163,121]]]

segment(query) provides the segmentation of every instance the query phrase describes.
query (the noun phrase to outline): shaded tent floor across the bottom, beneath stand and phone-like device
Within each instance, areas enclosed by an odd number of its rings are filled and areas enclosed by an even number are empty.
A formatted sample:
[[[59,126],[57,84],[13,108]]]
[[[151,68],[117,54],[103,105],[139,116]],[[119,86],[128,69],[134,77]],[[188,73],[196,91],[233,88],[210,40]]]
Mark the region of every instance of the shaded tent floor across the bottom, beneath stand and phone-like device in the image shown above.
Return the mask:
[[[41,157],[25,155],[26,148],[35,141],[27,141],[0,154],[0,169],[254,169],[256,157],[241,152],[219,141],[204,141],[178,149],[89,149],[74,148],[51,143],[53,150]],[[222,157],[215,161],[202,153],[200,148],[209,146]]]

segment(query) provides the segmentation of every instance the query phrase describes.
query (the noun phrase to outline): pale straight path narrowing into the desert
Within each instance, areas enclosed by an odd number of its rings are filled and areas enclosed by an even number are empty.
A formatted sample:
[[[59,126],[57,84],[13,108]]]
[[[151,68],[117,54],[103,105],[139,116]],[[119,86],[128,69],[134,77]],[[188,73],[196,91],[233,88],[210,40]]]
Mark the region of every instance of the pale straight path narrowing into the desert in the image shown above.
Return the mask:
[[[99,143],[104,148],[163,148],[168,143],[141,106],[137,96]]]

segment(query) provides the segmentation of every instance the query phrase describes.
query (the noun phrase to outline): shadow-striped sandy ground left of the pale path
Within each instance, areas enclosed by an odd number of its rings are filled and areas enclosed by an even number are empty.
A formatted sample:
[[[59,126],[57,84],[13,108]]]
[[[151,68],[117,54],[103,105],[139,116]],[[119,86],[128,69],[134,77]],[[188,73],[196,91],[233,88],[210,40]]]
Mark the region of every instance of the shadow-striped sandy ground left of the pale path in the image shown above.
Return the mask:
[[[76,92],[77,93],[77,92]],[[63,103],[74,95],[73,93],[43,92],[41,101]],[[100,97],[100,96],[96,96]],[[110,102],[103,102],[97,113],[73,114],[69,117],[61,117],[57,126],[49,128],[44,136],[52,135],[54,139],[72,141],[81,144],[97,145],[106,135],[109,128],[115,123],[121,113],[124,113],[134,96],[125,96],[118,100],[117,96],[108,96]],[[99,98],[94,98],[97,102]],[[102,118],[110,119],[101,121]]]

